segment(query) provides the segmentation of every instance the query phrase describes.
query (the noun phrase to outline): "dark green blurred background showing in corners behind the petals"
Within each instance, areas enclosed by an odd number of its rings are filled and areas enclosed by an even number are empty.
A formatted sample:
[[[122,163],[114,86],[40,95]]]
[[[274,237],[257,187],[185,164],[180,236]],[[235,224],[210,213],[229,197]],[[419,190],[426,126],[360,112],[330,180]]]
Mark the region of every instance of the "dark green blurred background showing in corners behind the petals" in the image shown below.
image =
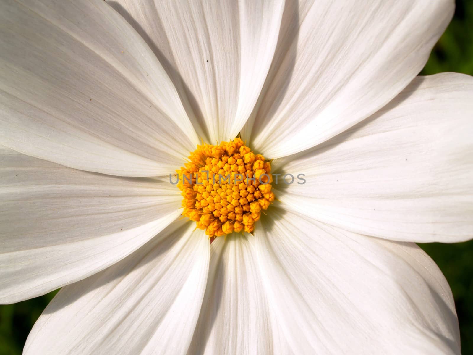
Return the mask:
[[[443,71],[473,75],[473,0],[456,1],[455,18],[421,74]],[[462,354],[473,354],[473,240],[456,244],[430,243],[421,247],[447,277],[455,297]],[[30,329],[55,293],[0,306],[0,355],[21,354]]]

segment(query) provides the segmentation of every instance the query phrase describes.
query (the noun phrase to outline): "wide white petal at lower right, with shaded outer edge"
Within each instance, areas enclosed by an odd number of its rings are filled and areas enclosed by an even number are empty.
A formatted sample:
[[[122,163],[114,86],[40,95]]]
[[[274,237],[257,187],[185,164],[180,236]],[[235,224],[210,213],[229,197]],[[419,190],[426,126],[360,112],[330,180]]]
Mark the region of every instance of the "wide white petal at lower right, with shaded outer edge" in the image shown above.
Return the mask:
[[[255,241],[272,311],[296,354],[459,354],[453,297],[413,243],[280,209]]]

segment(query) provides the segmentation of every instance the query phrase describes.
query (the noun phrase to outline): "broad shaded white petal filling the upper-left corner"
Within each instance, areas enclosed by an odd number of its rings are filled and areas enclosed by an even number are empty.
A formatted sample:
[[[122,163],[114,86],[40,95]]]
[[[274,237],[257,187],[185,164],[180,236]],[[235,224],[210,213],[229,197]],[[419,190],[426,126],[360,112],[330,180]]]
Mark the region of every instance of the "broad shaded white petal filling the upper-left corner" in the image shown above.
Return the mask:
[[[172,81],[104,1],[0,3],[0,143],[72,168],[173,172],[199,142]]]

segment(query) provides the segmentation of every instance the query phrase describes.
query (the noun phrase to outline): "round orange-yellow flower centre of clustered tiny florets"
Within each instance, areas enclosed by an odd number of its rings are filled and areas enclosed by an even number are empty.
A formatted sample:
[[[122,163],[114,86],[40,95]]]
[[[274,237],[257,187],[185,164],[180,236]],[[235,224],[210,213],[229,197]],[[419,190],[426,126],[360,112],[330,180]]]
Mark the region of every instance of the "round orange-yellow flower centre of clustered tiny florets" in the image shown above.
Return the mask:
[[[176,170],[183,215],[210,237],[253,233],[254,223],[274,201],[271,163],[240,138],[202,144]]]

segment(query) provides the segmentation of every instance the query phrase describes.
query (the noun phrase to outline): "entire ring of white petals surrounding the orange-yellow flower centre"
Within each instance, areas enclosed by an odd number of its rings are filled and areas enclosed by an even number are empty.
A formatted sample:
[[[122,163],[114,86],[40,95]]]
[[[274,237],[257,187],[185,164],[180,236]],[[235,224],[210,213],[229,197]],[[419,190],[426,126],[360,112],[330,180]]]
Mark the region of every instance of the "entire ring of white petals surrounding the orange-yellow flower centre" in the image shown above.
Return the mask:
[[[0,301],[26,354],[458,354],[414,242],[472,237],[473,79],[416,77],[452,0],[2,0]],[[304,173],[209,243],[168,181],[241,136]]]

